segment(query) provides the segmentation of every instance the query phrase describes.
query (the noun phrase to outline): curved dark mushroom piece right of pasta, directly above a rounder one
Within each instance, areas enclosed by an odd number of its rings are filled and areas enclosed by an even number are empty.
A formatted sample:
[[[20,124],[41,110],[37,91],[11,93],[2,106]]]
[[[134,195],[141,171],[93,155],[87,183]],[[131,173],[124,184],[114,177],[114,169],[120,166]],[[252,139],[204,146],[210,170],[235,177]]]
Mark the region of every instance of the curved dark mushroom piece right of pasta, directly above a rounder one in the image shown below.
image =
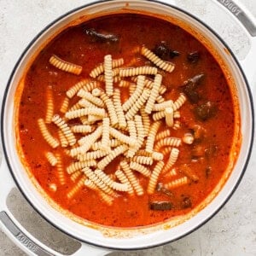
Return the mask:
[[[188,96],[189,102],[196,103],[199,102],[201,96],[196,91],[198,85],[201,83],[202,79],[205,77],[204,73],[195,75],[191,79],[187,79],[183,84],[183,93]]]

